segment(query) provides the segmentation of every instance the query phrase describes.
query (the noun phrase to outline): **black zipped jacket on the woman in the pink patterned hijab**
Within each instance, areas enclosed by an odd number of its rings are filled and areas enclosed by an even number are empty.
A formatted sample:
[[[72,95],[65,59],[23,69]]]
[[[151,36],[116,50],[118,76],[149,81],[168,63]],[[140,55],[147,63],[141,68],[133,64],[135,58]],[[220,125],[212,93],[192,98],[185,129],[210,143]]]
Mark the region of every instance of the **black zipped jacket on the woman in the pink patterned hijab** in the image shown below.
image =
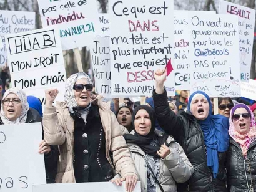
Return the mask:
[[[247,159],[244,159],[239,143],[230,138],[229,150],[227,151],[227,186],[229,191],[244,192],[251,183],[256,184],[256,141],[252,142],[247,151]],[[250,180],[249,161],[252,173]],[[256,191],[256,186],[254,187]]]

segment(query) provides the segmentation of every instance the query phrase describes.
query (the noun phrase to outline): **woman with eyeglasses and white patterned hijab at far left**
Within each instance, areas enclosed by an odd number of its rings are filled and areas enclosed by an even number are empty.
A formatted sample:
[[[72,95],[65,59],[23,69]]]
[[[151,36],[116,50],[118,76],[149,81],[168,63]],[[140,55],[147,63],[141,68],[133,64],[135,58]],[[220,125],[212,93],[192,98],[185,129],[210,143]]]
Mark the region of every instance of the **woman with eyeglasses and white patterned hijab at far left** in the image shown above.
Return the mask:
[[[24,91],[16,88],[6,90],[2,98],[0,125],[36,122],[42,122],[42,118],[34,108],[29,108]],[[57,165],[57,151],[42,140],[39,143],[39,153],[44,154],[47,183],[55,183],[54,165]]]

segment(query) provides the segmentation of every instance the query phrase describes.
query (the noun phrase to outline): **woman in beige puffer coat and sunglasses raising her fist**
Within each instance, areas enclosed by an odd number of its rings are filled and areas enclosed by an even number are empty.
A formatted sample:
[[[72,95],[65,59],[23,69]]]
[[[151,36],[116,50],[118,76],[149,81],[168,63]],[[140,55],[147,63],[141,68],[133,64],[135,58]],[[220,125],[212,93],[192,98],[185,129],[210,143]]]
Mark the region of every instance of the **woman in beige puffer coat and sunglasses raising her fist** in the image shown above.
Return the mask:
[[[87,74],[71,75],[66,82],[65,102],[52,106],[58,90],[46,90],[43,125],[46,142],[59,145],[57,183],[109,181],[115,170],[132,191],[137,173],[121,128],[109,103],[91,103],[92,82]],[[114,161],[111,161],[110,153]]]

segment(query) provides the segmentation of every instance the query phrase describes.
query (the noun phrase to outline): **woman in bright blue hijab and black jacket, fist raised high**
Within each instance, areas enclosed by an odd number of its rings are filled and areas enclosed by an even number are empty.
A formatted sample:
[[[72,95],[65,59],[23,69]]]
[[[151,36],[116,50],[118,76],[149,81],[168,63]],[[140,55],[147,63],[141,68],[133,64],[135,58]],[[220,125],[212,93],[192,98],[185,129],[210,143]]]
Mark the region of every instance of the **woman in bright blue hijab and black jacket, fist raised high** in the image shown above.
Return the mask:
[[[174,136],[194,166],[194,174],[186,185],[179,186],[179,191],[227,191],[228,118],[212,115],[210,98],[204,92],[194,92],[189,97],[187,112],[175,115],[169,108],[164,89],[166,77],[165,69],[155,71],[155,114],[160,127]]]

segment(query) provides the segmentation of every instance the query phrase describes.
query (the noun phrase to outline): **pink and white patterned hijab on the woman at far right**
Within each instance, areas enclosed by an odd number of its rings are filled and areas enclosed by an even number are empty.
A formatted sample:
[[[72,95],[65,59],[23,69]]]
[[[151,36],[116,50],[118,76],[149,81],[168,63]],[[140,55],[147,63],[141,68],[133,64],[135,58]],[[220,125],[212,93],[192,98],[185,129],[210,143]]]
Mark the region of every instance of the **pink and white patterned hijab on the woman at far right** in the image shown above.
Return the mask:
[[[245,135],[240,134],[235,130],[234,123],[232,121],[232,116],[237,108],[245,108],[248,113],[250,113],[250,129]],[[254,120],[254,113],[247,105],[244,104],[237,104],[235,105],[232,110],[230,111],[229,117],[229,135],[232,137],[235,142],[240,144],[240,147],[243,151],[243,156],[247,156],[247,150],[250,146],[250,143],[254,142],[256,139],[256,127],[255,127],[255,120]]]

